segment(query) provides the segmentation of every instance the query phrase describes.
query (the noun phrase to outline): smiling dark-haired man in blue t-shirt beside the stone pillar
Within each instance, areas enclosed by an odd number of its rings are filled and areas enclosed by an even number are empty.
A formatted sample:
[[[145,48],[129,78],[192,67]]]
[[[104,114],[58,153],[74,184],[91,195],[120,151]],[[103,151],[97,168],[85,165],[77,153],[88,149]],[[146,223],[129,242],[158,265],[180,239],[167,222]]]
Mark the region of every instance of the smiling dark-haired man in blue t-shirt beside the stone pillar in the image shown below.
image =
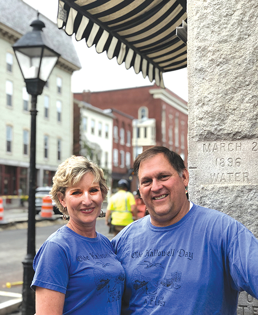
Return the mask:
[[[239,291],[258,298],[258,241],[230,216],[192,204],[181,157],[152,147],[134,163],[150,215],[113,240],[125,270],[122,315],[236,315]]]

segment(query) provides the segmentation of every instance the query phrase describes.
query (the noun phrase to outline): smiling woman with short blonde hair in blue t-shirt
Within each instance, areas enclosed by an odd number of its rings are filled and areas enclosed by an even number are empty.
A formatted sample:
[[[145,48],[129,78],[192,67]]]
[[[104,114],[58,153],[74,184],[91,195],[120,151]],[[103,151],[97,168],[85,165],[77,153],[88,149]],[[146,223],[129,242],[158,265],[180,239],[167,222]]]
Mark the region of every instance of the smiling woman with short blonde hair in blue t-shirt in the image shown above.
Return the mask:
[[[53,183],[52,199],[69,222],[35,256],[36,314],[120,314],[124,271],[110,241],[95,229],[108,190],[102,169],[72,156]]]

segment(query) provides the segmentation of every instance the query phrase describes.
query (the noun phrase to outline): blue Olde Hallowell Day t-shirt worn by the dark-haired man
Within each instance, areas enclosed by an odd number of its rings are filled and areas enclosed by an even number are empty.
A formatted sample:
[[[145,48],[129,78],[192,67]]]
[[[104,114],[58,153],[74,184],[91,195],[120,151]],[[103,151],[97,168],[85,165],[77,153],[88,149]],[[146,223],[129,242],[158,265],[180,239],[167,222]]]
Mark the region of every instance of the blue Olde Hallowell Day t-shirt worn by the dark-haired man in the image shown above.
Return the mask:
[[[220,211],[193,205],[167,227],[148,215],[112,244],[126,275],[122,315],[234,315],[239,291],[258,298],[258,241]]]

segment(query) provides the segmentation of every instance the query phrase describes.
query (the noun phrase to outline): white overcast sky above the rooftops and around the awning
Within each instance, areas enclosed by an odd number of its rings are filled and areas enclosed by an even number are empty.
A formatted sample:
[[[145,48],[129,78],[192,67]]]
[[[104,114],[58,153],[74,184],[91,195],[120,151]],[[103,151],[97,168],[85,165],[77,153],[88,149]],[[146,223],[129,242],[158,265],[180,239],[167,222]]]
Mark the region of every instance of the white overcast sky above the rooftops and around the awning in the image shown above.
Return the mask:
[[[31,7],[56,23],[58,0],[23,0]],[[40,18],[40,16],[39,16]],[[142,73],[136,74],[133,67],[125,69],[124,63],[118,65],[116,58],[109,60],[106,53],[97,53],[95,46],[88,47],[84,40],[77,42],[73,35],[73,43],[77,51],[81,70],[72,75],[72,92],[83,90],[104,91],[152,85]],[[188,101],[187,69],[163,73],[165,87]]]

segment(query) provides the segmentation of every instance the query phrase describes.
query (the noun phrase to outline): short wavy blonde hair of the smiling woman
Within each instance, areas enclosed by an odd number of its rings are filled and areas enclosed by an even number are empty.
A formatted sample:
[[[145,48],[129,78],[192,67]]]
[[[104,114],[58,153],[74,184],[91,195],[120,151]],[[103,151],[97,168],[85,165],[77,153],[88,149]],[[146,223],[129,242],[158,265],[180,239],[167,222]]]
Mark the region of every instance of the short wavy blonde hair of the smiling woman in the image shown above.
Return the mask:
[[[72,155],[65,162],[62,162],[53,177],[53,188],[50,191],[52,200],[63,214],[68,215],[67,209],[64,208],[58,198],[58,194],[66,194],[66,188],[72,187],[80,182],[83,175],[93,173],[94,183],[98,183],[103,200],[106,197],[109,187],[106,185],[103,170],[92,161],[84,156]]]

